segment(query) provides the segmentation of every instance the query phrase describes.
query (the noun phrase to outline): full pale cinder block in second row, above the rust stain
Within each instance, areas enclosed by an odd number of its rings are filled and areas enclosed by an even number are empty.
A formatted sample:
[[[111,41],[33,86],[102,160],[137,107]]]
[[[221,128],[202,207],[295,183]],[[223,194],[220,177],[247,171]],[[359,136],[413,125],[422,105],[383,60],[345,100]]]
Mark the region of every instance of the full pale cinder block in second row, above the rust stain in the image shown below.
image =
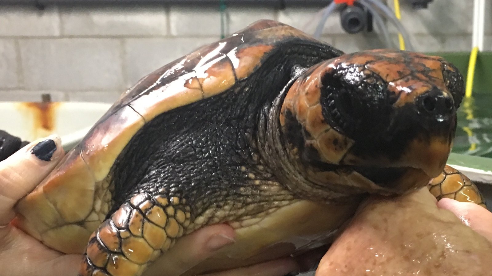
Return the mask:
[[[123,89],[122,49],[116,39],[64,38],[19,41],[30,90]]]

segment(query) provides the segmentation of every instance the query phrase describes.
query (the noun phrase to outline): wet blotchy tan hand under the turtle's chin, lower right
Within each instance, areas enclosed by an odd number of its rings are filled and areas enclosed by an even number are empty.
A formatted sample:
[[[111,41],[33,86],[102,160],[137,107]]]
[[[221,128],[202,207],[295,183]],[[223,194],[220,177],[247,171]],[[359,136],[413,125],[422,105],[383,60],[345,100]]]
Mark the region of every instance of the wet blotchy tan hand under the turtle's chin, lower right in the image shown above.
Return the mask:
[[[372,197],[323,257],[316,276],[490,275],[490,229],[492,213],[485,208],[448,198],[437,202],[426,188]]]

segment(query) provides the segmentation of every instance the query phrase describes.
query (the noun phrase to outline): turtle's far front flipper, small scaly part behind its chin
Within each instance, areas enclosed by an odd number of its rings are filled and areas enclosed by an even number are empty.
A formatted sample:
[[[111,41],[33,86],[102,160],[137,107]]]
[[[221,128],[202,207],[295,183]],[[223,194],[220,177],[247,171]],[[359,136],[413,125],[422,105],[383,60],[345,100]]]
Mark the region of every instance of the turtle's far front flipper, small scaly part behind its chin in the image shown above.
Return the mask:
[[[451,166],[446,165],[441,174],[433,178],[427,187],[437,200],[448,197],[461,202],[473,202],[486,208],[484,196],[477,186]]]

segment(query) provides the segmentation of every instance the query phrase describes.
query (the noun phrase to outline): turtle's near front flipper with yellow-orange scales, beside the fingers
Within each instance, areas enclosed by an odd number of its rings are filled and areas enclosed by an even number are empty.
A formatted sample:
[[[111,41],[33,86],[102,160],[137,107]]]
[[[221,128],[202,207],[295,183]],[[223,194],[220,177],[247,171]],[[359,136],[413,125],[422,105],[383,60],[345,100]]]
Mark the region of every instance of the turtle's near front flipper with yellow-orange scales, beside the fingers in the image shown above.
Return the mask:
[[[182,198],[134,195],[92,234],[79,275],[141,275],[183,236],[190,217]]]

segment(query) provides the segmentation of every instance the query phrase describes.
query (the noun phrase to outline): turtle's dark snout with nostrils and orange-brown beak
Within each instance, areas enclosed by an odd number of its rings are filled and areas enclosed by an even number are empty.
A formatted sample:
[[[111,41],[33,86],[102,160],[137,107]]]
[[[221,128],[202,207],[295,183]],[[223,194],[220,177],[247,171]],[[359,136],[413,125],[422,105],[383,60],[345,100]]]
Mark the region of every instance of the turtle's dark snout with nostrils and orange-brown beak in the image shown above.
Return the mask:
[[[401,106],[395,118],[387,139],[390,143],[395,139],[406,141],[401,144],[405,150],[397,160],[391,160],[390,166],[409,166],[430,177],[438,176],[446,165],[456,133],[456,108],[450,93],[431,87]],[[405,138],[405,133],[415,135]]]

